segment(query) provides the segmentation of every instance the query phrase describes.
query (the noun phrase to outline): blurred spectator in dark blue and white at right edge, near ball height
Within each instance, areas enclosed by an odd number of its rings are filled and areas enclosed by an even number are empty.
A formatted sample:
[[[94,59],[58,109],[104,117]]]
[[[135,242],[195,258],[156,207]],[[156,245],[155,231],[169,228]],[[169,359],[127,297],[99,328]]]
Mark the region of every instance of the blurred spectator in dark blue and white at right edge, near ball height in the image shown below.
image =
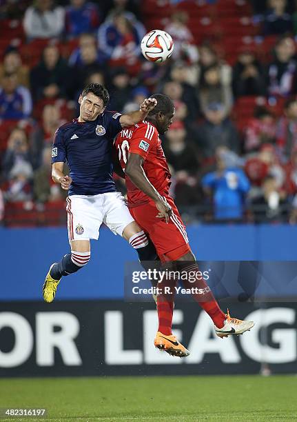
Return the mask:
[[[296,92],[295,43],[290,37],[282,37],[276,43],[276,58],[268,66],[269,94],[288,97]]]

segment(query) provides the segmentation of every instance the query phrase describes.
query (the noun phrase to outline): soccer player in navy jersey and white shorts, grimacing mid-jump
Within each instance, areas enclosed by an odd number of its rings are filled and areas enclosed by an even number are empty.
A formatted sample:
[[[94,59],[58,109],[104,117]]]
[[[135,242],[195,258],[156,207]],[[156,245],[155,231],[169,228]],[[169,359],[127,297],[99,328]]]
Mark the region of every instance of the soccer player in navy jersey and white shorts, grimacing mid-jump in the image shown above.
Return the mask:
[[[43,284],[43,299],[54,300],[61,277],[90,261],[90,239],[99,238],[105,223],[136,249],[140,261],[156,258],[154,245],[131,216],[112,179],[112,145],[122,128],[143,121],[156,106],[145,99],[139,111],[121,115],[105,111],[110,96],[98,83],[90,83],[79,97],[79,118],[62,125],[54,134],[52,179],[68,190],[68,237],[71,253],[53,263]],[[65,161],[70,176],[63,173]]]

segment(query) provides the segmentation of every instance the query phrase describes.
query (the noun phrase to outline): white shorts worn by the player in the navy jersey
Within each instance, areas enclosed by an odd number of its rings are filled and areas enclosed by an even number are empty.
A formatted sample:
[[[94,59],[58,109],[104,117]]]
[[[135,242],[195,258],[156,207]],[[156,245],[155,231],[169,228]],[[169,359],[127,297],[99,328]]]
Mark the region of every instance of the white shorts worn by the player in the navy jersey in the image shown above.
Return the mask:
[[[71,195],[66,201],[69,241],[98,240],[102,223],[114,234],[122,236],[126,225],[134,221],[120,192]]]

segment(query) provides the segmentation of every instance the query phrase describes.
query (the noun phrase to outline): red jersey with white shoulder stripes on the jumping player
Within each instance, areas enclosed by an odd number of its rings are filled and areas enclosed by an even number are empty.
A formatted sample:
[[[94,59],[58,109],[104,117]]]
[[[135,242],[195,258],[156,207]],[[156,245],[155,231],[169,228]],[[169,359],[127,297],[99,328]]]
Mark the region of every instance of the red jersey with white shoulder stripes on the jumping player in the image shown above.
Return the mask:
[[[170,171],[165,159],[158,130],[148,121],[124,128],[116,137],[114,143],[119,153],[119,161],[125,172],[128,153],[139,154],[145,160],[143,170],[150,183],[162,196],[167,195],[170,187]],[[139,188],[125,177],[127,188],[128,206],[130,208],[150,201]]]

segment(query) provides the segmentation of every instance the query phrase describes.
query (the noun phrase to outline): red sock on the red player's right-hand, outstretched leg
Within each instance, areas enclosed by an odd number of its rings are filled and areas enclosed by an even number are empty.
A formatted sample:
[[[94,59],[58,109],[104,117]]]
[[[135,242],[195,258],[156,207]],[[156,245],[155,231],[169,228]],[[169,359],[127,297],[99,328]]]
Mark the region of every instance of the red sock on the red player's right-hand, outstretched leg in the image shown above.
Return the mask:
[[[179,263],[181,262],[182,261],[179,261]],[[218,302],[216,301],[216,299],[214,299],[214,295],[209,289],[207,283],[205,282],[205,279],[203,279],[203,277],[200,277],[201,272],[199,272],[198,265],[196,263],[184,264],[185,266],[183,266],[182,271],[191,273],[191,277],[187,277],[187,280],[183,281],[185,288],[198,288],[205,290],[205,293],[203,294],[194,293],[192,294],[192,296],[194,297],[195,301],[198,302],[201,308],[203,308],[203,310],[205,310],[205,312],[209,314],[214,325],[216,325],[216,327],[218,328],[223,328],[226,315],[218,306]],[[190,282],[189,280],[193,279],[194,273],[196,273],[196,279],[194,280],[194,282]]]

